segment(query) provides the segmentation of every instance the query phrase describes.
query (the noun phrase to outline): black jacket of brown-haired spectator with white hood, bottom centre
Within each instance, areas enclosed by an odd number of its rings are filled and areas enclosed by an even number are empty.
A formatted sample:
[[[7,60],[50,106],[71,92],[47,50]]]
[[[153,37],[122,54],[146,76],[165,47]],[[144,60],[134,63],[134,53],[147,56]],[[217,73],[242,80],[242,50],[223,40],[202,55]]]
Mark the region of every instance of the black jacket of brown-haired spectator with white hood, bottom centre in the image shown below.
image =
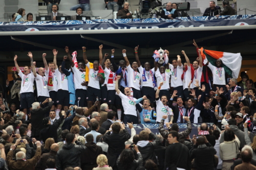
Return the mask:
[[[157,165],[159,164],[155,155],[155,148],[157,147],[159,143],[159,138],[154,134],[150,133],[150,136],[154,139],[153,142],[148,142],[147,145],[144,147],[141,147],[140,141],[137,143],[138,149],[142,155],[143,158],[143,165],[145,164],[146,160],[151,159],[153,160]]]

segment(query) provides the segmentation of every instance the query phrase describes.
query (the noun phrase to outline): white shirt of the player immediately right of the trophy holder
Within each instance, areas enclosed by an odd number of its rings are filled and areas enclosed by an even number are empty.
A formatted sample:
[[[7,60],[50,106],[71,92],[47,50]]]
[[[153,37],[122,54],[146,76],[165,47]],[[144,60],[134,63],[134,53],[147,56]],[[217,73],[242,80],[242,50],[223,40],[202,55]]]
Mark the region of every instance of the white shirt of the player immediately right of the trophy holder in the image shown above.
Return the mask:
[[[183,74],[183,65],[177,66],[174,68],[173,64],[169,64],[170,68],[170,73],[172,75],[172,78],[170,79],[170,86],[171,87],[178,87],[182,86],[182,80],[181,80],[181,75]],[[175,80],[176,78],[176,80]]]

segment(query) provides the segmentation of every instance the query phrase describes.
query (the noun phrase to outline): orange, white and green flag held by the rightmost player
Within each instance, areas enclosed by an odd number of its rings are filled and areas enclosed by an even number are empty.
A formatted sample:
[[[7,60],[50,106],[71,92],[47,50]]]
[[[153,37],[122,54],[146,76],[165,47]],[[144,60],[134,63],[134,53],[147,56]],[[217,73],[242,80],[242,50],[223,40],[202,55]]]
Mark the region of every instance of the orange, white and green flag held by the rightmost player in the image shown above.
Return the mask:
[[[216,60],[220,59],[222,61],[222,67],[224,67],[226,74],[228,74],[231,78],[238,78],[242,64],[242,56],[240,53],[234,54],[217,52],[205,50],[203,47],[201,47],[201,56],[204,60],[204,64],[209,61],[214,66],[216,66]]]

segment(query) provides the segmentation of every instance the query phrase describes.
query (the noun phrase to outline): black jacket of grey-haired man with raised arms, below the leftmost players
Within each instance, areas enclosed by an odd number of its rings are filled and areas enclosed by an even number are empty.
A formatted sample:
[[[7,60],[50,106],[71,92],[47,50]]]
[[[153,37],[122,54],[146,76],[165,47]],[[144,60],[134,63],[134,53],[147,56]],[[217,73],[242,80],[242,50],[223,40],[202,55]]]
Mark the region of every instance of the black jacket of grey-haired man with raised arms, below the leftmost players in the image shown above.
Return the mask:
[[[52,107],[52,102],[49,102],[49,105],[45,108],[39,108],[31,110],[31,136],[39,136],[40,131],[44,129],[42,124],[42,119],[45,118],[45,114],[50,112]]]

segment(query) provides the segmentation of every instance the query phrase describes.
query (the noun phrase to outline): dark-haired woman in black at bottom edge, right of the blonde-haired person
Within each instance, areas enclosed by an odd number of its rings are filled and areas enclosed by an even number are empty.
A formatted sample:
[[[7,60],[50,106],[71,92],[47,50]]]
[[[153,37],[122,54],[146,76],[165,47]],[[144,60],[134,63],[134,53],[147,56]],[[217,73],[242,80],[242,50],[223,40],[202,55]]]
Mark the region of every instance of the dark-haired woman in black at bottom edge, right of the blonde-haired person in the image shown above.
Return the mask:
[[[133,145],[134,150],[138,154],[138,159],[135,159],[134,152],[130,148],[130,144],[125,146],[125,150],[123,150],[117,159],[117,167],[118,169],[124,170],[135,170],[137,167],[142,166],[142,155],[139,152],[137,145]]]

